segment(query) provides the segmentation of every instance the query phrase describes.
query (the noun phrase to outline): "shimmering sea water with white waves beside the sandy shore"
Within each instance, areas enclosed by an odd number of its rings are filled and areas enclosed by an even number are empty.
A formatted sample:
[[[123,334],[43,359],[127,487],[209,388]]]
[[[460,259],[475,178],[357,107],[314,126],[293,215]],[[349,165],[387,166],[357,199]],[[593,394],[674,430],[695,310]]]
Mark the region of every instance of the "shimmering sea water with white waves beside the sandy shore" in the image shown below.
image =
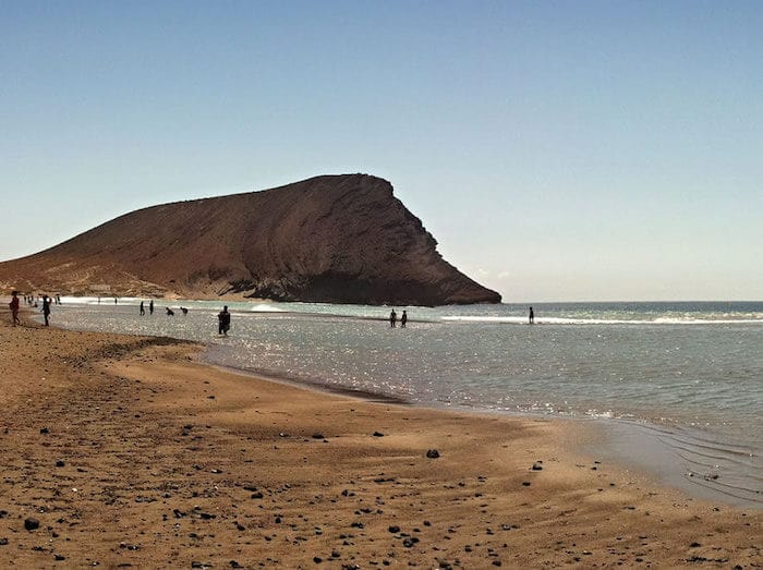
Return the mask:
[[[390,307],[233,302],[227,338],[219,302],[137,304],[64,298],[52,323],[203,341],[210,363],[329,389],[603,422],[619,459],[763,505],[763,302],[536,304],[533,326],[526,305],[405,307],[404,329]]]

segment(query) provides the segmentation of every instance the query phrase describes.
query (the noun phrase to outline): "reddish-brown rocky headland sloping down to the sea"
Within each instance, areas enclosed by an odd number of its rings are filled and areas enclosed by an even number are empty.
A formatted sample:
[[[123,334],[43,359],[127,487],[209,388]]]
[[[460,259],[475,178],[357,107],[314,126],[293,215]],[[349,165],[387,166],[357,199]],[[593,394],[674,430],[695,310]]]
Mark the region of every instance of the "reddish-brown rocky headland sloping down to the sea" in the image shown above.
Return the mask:
[[[389,182],[366,174],[133,211],[1,263],[0,286],[331,303],[500,301],[441,258]]]

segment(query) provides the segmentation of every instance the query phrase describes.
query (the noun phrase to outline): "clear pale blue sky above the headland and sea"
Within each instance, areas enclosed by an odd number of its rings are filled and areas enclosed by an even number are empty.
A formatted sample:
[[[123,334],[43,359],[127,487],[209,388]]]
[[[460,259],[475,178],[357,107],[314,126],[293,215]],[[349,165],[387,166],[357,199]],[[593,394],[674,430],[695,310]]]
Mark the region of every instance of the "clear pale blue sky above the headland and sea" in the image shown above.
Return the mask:
[[[763,299],[759,1],[0,0],[0,259],[389,180],[506,301]]]

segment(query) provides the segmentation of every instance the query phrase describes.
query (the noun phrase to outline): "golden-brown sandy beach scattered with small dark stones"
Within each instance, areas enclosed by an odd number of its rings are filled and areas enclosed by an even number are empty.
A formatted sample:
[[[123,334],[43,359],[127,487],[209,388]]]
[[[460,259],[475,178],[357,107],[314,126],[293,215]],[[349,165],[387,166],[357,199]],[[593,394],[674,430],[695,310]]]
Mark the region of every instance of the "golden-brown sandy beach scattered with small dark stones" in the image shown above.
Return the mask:
[[[760,510],[586,456],[581,423],[322,393],[184,341],[0,317],[2,567],[763,566]]]

